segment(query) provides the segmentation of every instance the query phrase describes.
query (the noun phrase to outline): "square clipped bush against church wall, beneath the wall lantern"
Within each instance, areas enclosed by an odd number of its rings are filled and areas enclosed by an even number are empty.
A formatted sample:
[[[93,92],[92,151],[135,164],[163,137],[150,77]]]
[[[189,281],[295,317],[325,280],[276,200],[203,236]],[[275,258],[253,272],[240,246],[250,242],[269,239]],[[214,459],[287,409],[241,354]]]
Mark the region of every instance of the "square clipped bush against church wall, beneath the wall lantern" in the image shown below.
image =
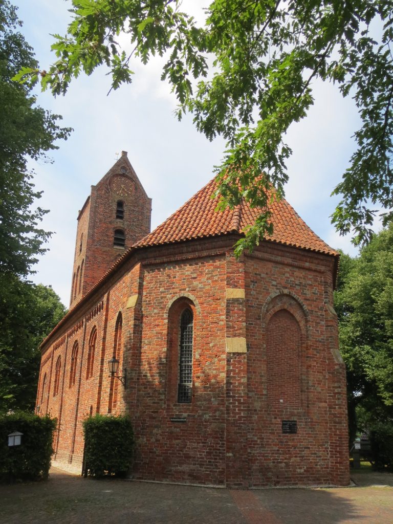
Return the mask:
[[[96,414],[83,421],[85,474],[126,476],[132,464],[134,432],[126,416]]]

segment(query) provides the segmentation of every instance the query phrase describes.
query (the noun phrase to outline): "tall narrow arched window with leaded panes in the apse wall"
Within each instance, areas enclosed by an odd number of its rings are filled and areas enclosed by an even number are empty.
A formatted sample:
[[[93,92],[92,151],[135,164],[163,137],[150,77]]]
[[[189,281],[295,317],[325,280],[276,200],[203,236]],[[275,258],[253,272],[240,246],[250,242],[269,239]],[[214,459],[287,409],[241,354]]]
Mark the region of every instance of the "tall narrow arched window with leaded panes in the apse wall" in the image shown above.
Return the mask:
[[[191,403],[193,315],[185,309],[180,319],[178,402]]]

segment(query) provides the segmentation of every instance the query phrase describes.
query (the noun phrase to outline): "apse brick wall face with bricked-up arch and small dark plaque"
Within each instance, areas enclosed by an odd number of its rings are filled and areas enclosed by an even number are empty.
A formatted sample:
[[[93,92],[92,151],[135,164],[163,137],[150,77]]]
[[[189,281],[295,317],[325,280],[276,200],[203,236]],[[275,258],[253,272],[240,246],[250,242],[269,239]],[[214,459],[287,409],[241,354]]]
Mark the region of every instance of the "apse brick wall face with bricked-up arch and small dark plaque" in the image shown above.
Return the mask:
[[[336,413],[330,406],[331,388],[345,390],[345,366],[326,347],[332,260],[270,247],[246,267],[250,483],[345,485],[347,445],[337,445],[347,434],[344,396]],[[283,420],[296,421],[297,433],[283,433]],[[340,472],[331,462],[338,447]]]

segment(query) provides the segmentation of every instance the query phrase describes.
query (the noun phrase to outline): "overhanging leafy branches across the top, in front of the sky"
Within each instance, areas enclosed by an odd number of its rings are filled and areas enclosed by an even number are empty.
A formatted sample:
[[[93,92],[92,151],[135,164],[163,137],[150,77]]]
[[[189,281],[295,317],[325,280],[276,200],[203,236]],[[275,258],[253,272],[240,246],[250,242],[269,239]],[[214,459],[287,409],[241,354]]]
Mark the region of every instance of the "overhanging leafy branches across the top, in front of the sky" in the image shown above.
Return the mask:
[[[48,71],[26,68],[18,78],[65,93],[81,71],[106,64],[112,88],[132,81],[129,65],[166,57],[168,79],[179,101],[178,117],[194,115],[209,139],[222,135],[227,150],[217,168],[221,208],[248,201],[260,207],[256,224],[236,252],[252,249],[271,230],[266,189],[275,198],[288,179],[291,150],[283,137],[313,104],[312,82],[335,82],[352,96],[363,125],[354,134],[357,150],[342,182],[333,214],[341,234],[369,240],[376,211],[393,216],[392,0],[214,0],[203,27],[181,12],[180,0],[72,0],[73,21],[56,35],[57,60]],[[132,44],[122,49],[118,36]],[[209,57],[213,58],[212,65]],[[111,89],[112,89],[111,88]]]

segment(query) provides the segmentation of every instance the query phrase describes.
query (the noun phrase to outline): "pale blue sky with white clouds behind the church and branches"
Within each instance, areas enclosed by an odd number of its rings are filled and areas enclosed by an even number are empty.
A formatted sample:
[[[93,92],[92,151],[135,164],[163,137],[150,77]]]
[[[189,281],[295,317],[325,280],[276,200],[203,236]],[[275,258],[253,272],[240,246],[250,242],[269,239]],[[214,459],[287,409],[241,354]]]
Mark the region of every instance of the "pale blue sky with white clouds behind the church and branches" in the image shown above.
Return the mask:
[[[14,0],[24,25],[21,32],[34,48],[42,69],[54,60],[51,34],[65,34],[70,18],[67,0]],[[205,0],[185,0],[184,10],[202,19]],[[62,125],[74,130],[67,141],[58,141],[50,152],[52,163],[30,162],[37,190],[43,190],[41,208],[50,210],[42,227],[52,231],[31,277],[52,286],[68,306],[78,211],[95,185],[128,151],[137,176],[152,198],[152,228],[163,222],[214,176],[223,158],[221,138],[210,142],[198,133],[192,117],[179,123],[173,111],[177,102],[170,86],[160,81],[161,63],[131,64],[133,83],[117,91],[107,70],[73,80],[65,96],[53,97],[37,89],[37,103],[63,116]],[[335,232],[330,215],[339,198],[331,197],[348,167],[360,127],[355,104],[343,99],[336,86],[316,81],[315,103],[307,118],[293,124],[286,142],[293,150],[287,161],[289,182],[286,199],[311,229],[326,243],[356,255],[350,236]]]

